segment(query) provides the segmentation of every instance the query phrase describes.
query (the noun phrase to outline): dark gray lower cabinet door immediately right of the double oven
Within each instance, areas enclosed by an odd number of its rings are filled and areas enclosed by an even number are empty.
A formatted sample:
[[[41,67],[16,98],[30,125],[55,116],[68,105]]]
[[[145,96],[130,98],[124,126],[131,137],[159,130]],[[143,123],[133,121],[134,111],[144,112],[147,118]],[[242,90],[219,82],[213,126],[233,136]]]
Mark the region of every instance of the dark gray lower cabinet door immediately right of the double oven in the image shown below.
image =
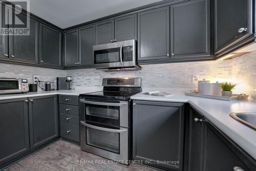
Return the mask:
[[[182,103],[134,101],[134,159],[162,169],[182,170],[183,118]],[[179,163],[163,164],[157,161]]]

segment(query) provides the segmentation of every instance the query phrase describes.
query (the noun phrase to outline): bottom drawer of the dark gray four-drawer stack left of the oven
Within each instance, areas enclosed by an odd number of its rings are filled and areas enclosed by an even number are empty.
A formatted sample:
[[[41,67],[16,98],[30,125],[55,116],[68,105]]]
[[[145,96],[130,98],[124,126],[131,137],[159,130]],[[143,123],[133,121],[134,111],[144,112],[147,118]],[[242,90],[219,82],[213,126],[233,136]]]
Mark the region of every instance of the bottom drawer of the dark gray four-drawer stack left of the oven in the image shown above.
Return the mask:
[[[70,123],[60,122],[60,136],[79,142],[79,126]]]

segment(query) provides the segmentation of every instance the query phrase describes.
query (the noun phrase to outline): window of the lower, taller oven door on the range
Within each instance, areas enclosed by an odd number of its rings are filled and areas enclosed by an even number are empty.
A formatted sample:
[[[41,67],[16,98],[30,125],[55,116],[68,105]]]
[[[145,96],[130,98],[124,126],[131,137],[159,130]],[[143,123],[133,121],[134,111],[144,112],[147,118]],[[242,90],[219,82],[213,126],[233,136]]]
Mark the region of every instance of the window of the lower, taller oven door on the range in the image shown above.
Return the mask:
[[[119,154],[119,133],[86,127],[86,143]]]

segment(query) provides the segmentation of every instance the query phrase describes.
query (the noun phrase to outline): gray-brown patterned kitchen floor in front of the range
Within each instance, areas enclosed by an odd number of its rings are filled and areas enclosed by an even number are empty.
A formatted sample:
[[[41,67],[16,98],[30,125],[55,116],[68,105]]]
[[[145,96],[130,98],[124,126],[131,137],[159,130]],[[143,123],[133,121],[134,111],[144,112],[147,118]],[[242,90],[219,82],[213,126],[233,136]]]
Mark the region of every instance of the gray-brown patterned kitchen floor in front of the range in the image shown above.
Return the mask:
[[[78,164],[77,160],[81,160]],[[84,161],[93,161],[84,163]],[[95,161],[101,162],[99,164]],[[110,164],[108,159],[87,153],[80,150],[80,146],[58,140],[53,144],[41,149],[31,156],[4,169],[8,170],[144,170],[154,171],[155,169],[139,164],[124,165],[119,163]],[[102,164],[102,162],[104,162]]]

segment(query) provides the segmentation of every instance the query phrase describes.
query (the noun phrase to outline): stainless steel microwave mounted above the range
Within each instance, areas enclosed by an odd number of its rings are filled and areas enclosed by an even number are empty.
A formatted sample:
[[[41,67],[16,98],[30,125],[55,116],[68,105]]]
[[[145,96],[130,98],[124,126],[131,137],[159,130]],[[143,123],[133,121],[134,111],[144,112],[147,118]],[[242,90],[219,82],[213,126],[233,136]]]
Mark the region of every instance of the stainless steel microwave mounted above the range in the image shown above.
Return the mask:
[[[93,46],[94,67],[104,71],[140,70],[135,39]]]

